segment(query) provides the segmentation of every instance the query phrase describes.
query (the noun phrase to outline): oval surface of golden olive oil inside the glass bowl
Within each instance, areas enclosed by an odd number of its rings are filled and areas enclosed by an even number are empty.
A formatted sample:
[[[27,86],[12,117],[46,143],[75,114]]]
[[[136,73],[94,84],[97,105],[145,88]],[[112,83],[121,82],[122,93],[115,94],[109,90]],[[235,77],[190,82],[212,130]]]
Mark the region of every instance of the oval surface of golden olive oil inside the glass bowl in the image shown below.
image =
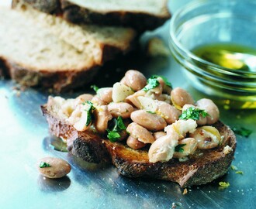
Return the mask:
[[[231,43],[213,43],[192,50],[197,57],[231,70],[256,72],[256,49]]]

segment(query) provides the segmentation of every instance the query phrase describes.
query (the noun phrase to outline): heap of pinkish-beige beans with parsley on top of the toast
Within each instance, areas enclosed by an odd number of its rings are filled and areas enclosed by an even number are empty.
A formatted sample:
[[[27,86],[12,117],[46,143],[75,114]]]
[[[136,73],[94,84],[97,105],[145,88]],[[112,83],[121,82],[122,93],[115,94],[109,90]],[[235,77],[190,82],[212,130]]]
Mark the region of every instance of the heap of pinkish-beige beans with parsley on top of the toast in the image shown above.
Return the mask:
[[[151,163],[185,161],[196,150],[221,144],[220,133],[211,126],[220,118],[213,101],[194,101],[188,91],[171,87],[165,77],[147,80],[137,70],[128,70],[121,81],[99,88],[95,95],[50,97],[48,103],[62,107],[60,115],[78,131],[92,128],[111,142],[147,149]]]

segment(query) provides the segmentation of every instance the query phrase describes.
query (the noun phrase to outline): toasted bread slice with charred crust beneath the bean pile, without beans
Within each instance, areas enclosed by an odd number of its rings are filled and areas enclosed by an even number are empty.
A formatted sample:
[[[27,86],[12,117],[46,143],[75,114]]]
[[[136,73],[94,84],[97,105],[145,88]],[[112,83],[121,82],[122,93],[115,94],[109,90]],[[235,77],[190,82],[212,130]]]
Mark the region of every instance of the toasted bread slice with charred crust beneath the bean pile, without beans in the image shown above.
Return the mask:
[[[150,163],[147,150],[130,149],[119,142],[110,142],[92,130],[78,132],[58,113],[58,109],[43,105],[51,135],[67,139],[67,149],[74,156],[92,163],[112,162],[123,176],[150,177],[169,180],[181,187],[209,183],[227,173],[234,159],[236,137],[222,122],[213,124],[223,135],[221,146],[195,152],[188,161],[171,159],[166,163]]]

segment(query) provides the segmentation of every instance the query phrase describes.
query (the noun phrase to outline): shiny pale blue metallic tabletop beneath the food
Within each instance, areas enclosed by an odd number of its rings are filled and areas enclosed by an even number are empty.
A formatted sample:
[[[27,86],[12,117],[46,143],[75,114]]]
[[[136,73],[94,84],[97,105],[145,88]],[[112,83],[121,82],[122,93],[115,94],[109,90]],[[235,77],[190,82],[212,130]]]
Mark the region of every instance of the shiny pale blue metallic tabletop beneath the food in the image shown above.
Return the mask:
[[[171,1],[171,11],[188,1]],[[168,22],[153,33],[146,33],[141,45],[158,36],[168,43]],[[143,57],[134,54],[126,60],[108,63],[92,81],[99,87],[119,81],[125,70],[139,69],[147,77],[160,74],[174,87],[184,87],[195,99],[206,97],[196,91],[182,76],[171,57]],[[88,92],[90,86],[74,93]],[[57,151],[50,138],[40,105],[47,92],[22,91],[12,81],[0,81],[0,208],[255,208],[256,176],[256,111],[227,110],[220,106],[221,120],[230,127],[254,130],[249,138],[237,135],[237,151],[232,165],[244,174],[229,170],[213,183],[187,188],[162,180],[133,180],[119,176],[114,166],[85,163],[67,152]],[[55,149],[54,149],[55,147]],[[57,156],[71,163],[68,176],[48,180],[40,176],[36,161],[43,156]],[[230,187],[221,189],[220,181]]]

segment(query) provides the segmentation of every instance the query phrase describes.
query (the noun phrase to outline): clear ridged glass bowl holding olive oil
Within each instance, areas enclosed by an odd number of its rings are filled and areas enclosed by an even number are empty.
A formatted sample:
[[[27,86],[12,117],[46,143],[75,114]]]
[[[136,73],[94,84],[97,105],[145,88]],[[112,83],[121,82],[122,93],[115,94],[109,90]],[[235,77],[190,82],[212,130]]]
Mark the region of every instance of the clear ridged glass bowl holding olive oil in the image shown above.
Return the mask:
[[[256,1],[197,0],[171,18],[170,48],[199,91],[256,108]]]

